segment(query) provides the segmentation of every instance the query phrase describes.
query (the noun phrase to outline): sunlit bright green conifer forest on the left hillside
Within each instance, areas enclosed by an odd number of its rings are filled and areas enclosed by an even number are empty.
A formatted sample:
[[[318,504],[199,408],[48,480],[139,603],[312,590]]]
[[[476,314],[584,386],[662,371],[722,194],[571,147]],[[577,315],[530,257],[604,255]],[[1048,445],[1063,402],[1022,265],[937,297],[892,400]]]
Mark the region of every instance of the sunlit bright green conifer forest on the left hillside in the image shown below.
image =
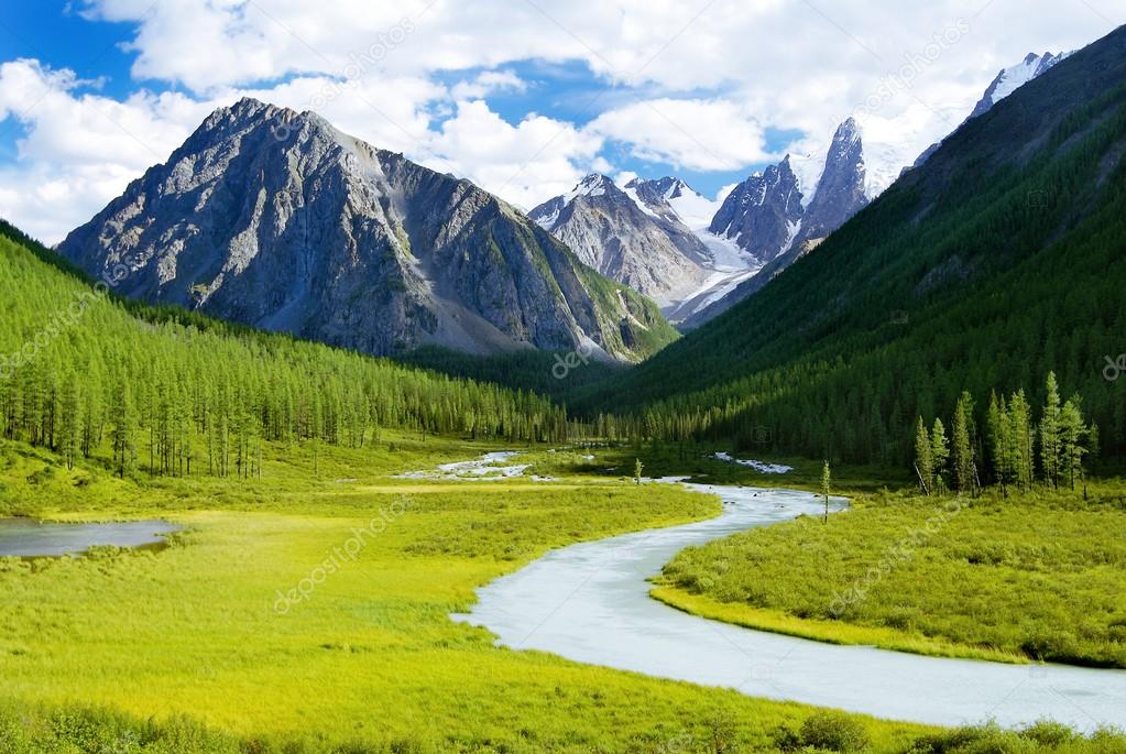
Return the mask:
[[[117,299],[0,226],[0,437],[129,474],[254,474],[261,441],[560,439],[549,401]]]

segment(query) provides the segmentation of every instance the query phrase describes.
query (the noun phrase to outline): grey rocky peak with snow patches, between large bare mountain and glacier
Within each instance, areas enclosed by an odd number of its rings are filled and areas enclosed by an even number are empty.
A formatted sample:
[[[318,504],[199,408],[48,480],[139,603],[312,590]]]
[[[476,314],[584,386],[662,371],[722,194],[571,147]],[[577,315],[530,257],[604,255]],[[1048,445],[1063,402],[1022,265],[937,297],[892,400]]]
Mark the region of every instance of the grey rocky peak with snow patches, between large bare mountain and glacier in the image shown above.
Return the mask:
[[[651,209],[592,173],[528,216],[602,275],[668,304],[704,279],[707,248],[667,206]]]

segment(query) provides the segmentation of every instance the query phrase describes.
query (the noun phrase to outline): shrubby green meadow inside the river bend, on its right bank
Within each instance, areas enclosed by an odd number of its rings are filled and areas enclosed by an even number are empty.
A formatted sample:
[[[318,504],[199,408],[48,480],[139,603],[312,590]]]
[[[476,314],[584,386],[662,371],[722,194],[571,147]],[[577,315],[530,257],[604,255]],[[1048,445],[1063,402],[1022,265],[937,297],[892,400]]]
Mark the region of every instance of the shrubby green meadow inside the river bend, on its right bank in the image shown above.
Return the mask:
[[[653,593],[837,644],[1126,667],[1121,491],[866,495],[828,526],[803,517],[689,548]]]

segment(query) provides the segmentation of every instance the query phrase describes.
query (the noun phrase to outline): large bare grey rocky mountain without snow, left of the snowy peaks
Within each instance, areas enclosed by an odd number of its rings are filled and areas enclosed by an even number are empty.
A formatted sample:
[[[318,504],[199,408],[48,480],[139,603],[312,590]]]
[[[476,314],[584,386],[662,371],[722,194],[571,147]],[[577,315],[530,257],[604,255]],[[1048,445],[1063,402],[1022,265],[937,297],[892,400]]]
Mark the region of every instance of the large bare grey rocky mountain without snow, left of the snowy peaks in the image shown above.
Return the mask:
[[[470,181],[312,113],[220,108],[59,251],[118,290],[367,353],[591,348],[636,360],[676,335]]]

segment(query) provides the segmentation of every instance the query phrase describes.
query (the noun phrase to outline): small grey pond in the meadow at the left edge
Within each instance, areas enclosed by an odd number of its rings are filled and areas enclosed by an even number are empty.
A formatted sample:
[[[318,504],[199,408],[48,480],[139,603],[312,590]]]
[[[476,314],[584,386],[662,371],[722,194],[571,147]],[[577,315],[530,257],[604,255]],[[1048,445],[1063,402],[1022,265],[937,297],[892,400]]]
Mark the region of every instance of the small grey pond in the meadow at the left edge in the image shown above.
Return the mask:
[[[91,547],[161,545],[179,531],[168,521],[113,523],[51,523],[32,519],[0,519],[0,557],[78,555]]]

